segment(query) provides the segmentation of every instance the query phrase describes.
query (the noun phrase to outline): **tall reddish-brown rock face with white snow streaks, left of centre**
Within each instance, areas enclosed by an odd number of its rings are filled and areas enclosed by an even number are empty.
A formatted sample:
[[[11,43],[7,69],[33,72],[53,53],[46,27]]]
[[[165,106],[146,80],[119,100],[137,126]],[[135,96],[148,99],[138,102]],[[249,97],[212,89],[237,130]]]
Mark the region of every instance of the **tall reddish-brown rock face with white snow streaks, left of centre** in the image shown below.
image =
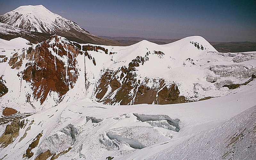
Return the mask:
[[[68,40],[54,35],[36,47],[29,47],[27,53],[14,54],[9,65],[20,69],[22,60],[28,60],[25,70],[18,75],[33,85],[33,97],[40,99],[42,104],[49,92],[62,96],[74,87],[78,78],[76,56],[79,53]]]

